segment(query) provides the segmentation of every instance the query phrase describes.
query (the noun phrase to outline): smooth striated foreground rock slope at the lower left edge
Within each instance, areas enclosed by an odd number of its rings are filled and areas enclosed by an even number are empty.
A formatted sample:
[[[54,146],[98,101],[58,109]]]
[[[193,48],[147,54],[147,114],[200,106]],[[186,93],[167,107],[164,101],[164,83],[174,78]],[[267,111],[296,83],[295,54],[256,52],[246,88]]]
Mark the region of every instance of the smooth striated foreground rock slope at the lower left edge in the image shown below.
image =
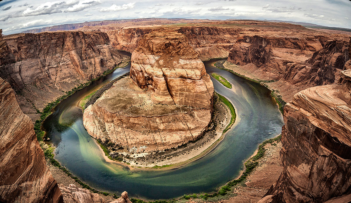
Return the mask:
[[[9,83],[0,78],[0,202],[62,203],[34,126]]]

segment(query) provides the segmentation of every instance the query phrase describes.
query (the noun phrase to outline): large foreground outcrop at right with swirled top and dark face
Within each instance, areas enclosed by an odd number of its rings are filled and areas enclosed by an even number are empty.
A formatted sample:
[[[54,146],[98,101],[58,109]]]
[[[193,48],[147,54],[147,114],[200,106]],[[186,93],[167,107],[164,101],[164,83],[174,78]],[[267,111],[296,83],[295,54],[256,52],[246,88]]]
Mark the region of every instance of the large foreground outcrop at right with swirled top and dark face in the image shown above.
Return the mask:
[[[284,169],[260,203],[324,202],[351,194],[351,70],[340,75],[346,83],[311,87],[285,105]]]

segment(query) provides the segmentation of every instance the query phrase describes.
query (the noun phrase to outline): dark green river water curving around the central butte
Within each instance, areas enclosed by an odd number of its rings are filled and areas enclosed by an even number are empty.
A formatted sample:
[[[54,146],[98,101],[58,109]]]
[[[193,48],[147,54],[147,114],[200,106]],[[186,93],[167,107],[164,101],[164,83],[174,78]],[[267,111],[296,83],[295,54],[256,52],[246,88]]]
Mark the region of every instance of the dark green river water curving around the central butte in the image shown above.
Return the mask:
[[[166,199],[184,194],[211,192],[237,177],[258,145],[281,133],[283,118],[270,91],[257,83],[217,69],[205,62],[207,73],[216,72],[232,85],[228,89],[212,78],[214,89],[235,107],[237,120],[224,140],[210,153],[188,165],[170,170],[148,170],[133,173],[117,163],[106,162],[100,147],[85,130],[78,102],[130,69],[118,68],[75,92],[54,109],[44,122],[48,137],[56,148],[55,159],[90,186],[111,193],[128,191],[130,197]]]

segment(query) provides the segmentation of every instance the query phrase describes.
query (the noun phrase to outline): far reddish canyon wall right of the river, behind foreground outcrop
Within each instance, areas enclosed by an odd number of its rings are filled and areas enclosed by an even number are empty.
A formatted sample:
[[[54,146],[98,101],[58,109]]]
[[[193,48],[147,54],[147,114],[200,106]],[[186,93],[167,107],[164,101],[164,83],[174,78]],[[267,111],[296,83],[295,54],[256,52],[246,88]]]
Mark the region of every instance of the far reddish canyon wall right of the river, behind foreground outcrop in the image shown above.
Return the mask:
[[[339,72],[349,66],[349,36],[304,33],[239,36],[228,61],[261,80],[275,80],[272,86],[284,100],[308,87],[338,83]]]

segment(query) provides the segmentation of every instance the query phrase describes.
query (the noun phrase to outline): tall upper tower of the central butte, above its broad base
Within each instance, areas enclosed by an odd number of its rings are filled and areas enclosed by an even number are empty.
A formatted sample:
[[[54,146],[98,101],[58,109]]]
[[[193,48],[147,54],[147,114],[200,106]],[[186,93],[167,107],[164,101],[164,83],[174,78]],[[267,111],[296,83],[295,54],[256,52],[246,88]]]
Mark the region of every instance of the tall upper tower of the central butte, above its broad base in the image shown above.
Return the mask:
[[[167,29],[146,34],[133,51],[130,76],[154,91],[155,103],[212,107],[212,81],[183,34]]]

